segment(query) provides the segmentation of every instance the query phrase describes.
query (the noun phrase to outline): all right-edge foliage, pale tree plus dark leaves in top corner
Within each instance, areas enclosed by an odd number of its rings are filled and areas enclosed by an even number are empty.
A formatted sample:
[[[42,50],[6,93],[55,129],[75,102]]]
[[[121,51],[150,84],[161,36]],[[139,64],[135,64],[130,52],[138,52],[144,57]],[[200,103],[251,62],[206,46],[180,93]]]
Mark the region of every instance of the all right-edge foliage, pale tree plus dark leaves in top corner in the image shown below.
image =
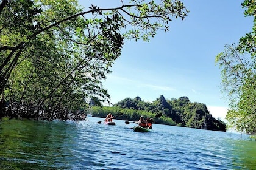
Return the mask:
[[[256,134],[256,2],[245,0],[244,15],[254,17],[252,32],[240,38],[238,46],[226,45],[216,56],[221,67],[222,93],[229,99],[226,119],[237,131]]]

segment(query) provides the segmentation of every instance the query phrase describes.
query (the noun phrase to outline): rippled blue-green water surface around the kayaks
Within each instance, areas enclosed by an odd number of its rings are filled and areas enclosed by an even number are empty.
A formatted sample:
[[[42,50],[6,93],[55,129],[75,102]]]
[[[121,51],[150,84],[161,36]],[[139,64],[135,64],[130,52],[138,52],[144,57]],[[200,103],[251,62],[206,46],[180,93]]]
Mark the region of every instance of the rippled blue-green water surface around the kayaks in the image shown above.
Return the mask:
[[[0,169],[256,169],[247,135],[102,120],[0,121]]]

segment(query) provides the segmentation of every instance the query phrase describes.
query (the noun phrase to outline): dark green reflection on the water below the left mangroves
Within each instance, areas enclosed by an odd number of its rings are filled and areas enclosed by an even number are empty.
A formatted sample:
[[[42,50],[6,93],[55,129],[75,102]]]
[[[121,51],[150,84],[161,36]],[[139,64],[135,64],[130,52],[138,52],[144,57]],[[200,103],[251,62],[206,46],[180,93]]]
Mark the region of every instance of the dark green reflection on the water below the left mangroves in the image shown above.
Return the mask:
[[[0,166],[5,169],[64,168],[76,131],[72,123],[6,120],[0,124]]]

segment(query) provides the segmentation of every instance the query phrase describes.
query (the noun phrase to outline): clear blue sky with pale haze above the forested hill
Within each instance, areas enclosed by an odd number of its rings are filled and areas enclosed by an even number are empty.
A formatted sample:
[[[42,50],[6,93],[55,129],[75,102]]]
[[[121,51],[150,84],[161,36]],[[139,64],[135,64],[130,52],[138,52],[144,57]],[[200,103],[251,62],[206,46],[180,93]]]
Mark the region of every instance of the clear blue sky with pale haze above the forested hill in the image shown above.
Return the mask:
[[[88,4],[120,4],[79,2],[85,10]],[[224,50],[225,44],[237,43],[251,32],[253,18],[244,17],[241,0],[182,2],[190,13],[183,21],[172,20],[169,32],[159,31],[149,42],[125,41],[104,87],[113,104],[127,97],[139,96],[151,102],[160,95],[166,99],[186,96],[191,102],[206,104],[214,117],[223,120],[228,103],[219,89],[221,69],[215,65],[215,56]]]

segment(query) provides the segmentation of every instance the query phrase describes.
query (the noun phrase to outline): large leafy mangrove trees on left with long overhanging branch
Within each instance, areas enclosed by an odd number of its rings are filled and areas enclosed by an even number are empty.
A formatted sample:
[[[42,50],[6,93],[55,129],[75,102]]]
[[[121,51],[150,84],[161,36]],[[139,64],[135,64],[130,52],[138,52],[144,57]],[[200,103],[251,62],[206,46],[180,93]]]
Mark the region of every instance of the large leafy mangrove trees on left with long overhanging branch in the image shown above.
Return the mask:
[[[120,2],[84,11],[77,0],[1,0],[0,117],[66,119],[87,98],[108,101],[101,80],[124,39],[149,41],[188,13],[177,0]]]

